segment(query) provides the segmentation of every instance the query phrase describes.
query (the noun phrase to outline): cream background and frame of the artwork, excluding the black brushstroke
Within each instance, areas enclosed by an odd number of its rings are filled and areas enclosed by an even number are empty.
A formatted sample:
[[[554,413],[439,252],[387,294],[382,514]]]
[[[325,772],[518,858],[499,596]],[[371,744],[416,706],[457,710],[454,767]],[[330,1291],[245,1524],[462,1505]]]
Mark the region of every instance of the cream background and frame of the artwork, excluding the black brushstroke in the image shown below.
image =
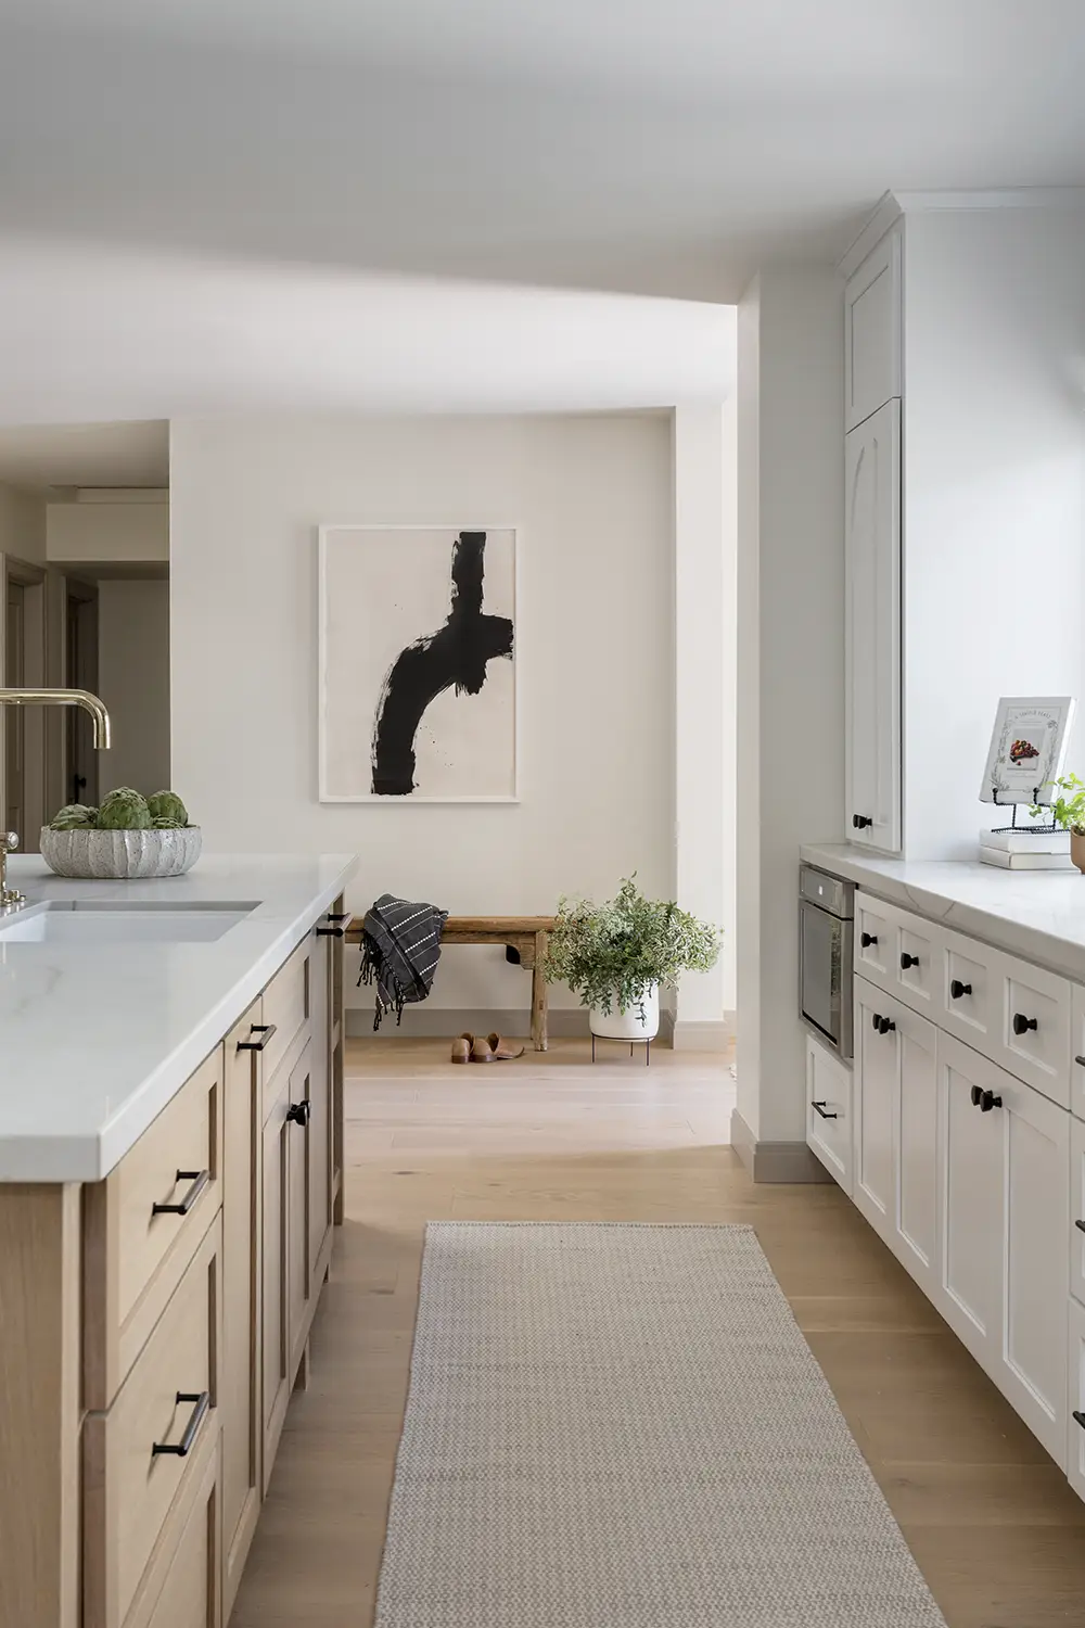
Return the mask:
[[[451,619],[459,596],[452,558],[465,536],[485,539],[480,612],[485,622],[511,624],[508,659],[504,653],[485,658],[480,689],[449,685],[426,705],[413,741],[413,788],[377,790],[384,689],[407,646],[426,643],[441,630],[441,617]],[[317,527],[320,803],[519,803],[519,575],[516,524],[343,521]]]

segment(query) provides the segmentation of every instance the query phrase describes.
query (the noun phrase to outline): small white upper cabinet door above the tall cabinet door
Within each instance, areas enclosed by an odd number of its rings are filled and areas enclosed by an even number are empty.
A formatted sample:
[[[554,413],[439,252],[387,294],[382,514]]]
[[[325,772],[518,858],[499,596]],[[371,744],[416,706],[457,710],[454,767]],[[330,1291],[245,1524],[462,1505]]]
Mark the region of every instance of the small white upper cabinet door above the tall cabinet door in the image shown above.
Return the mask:
[[[844,288],[844,428],[901,394],[901,238],[890,231]]]

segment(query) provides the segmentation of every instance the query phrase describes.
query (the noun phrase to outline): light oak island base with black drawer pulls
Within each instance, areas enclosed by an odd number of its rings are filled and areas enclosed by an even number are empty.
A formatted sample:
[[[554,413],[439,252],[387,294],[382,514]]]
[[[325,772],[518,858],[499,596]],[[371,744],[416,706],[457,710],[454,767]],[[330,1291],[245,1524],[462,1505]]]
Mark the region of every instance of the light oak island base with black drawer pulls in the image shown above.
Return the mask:
[[[342,1213],[333,931],[106,1180],[0,1185],[0,1628],[229,1618]]]

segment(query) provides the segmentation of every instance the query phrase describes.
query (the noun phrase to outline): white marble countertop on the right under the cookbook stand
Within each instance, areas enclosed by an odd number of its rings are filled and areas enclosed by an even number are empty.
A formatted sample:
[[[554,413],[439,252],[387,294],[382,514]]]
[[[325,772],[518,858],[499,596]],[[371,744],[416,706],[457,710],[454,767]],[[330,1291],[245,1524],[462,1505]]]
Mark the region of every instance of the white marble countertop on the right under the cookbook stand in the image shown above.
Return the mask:
[[[799,853],[878,899],[1085,983],[1085,876],[1078,871],[882,860],[851,843],[810,843]]]

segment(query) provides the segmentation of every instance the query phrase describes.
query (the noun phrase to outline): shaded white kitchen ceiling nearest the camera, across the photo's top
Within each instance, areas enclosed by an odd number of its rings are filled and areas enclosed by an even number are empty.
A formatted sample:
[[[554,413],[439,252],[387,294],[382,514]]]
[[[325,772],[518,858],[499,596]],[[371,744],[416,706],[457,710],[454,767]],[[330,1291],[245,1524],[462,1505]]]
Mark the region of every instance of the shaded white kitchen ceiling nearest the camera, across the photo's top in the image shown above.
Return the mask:
[[[1082,0],[0,0],[0,220],[734,300],[888,187],[1085,181]]]

